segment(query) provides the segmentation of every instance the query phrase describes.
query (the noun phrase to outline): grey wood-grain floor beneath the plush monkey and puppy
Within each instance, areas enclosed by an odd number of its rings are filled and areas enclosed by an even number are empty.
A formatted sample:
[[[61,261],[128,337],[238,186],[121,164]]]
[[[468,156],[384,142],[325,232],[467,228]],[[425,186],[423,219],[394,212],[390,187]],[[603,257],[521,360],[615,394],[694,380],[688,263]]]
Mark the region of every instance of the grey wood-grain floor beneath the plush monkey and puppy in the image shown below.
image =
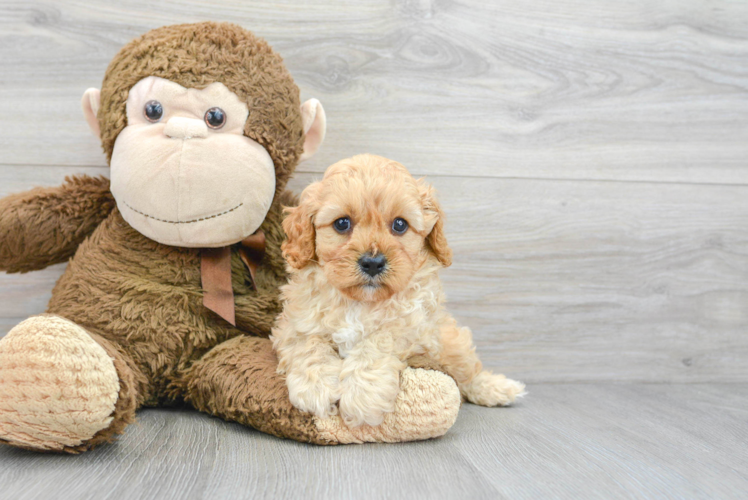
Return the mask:
[[[315,447],[146,410],[80,456],[0,448],[0,498],[744,498],[748,386],[541,385],[441,439]]]

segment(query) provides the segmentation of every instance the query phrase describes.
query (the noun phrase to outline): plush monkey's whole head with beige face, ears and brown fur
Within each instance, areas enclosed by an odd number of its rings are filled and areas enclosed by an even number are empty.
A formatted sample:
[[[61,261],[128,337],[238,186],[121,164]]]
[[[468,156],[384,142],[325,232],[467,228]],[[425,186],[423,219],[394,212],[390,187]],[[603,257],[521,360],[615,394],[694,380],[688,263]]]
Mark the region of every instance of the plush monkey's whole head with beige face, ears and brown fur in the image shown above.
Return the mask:
[[[281,58],[226,23],[133,40],[82,104],[122,217],[180,247],[223,247],[254,233],[325,134],[321,104],[299,104]]]

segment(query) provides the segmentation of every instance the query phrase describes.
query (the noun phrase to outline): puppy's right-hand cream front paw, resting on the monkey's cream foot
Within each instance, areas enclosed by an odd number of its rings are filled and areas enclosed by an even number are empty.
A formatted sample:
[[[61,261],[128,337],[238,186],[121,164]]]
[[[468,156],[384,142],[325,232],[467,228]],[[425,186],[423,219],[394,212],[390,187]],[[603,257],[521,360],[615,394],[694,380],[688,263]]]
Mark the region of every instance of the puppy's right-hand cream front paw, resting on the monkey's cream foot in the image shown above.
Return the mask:
[[[348,427],[382,423],[385,413],[395,410],[400,392],[400,374],[396,370],[360,370],[341,382],[340,416]]]

